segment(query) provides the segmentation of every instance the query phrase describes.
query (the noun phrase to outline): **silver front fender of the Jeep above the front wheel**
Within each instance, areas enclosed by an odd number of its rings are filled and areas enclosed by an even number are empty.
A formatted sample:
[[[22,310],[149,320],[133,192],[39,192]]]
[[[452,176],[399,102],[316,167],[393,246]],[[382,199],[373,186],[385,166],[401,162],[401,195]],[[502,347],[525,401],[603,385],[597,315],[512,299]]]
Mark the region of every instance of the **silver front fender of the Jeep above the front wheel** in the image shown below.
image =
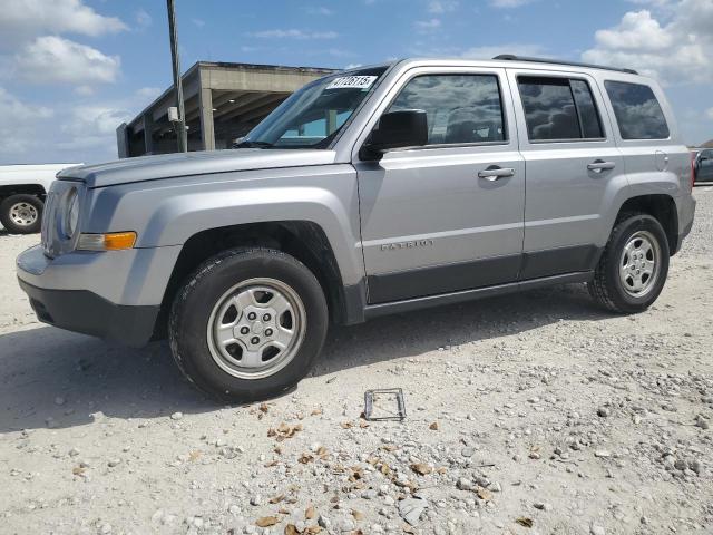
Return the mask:
[[[307,221],[324,231],[343,283],[363,279],[356,173],[348,164],[168,178],[95,192],[84,232],[135,231],[137,247],[163,247],[211,228]]]

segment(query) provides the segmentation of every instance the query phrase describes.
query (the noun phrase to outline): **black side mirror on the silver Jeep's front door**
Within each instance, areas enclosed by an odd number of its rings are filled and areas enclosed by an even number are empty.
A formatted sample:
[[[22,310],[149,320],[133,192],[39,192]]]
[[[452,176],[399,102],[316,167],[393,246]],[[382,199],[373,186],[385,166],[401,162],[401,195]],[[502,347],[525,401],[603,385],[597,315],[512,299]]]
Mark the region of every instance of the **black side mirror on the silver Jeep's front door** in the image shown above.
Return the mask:
[[[379,159],[392,148],[419,147],[428,143],[428,121],[422,109],[383,114],[361,150],[363,159]]]

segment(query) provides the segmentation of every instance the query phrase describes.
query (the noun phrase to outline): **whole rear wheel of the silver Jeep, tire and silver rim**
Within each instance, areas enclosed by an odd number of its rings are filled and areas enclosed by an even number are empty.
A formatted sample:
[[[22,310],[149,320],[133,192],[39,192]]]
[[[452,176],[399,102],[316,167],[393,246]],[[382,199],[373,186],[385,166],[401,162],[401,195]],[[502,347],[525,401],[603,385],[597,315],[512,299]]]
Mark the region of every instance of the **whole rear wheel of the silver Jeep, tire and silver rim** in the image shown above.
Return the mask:
[[[647,214],[619,217],[588,284],[589,293],[613,312],[634,313],[656,301],[668,274],[668,240]]]

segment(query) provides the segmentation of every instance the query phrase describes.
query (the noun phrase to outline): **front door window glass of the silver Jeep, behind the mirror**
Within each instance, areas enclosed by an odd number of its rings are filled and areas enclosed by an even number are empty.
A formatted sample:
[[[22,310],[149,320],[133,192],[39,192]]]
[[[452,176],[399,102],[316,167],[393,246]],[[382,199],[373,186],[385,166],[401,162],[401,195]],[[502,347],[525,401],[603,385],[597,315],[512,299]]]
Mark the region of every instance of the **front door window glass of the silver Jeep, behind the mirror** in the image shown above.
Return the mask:
[[[428,145],[505,142],[498,77],[495,75],[417,76],[388,111],[422,109]]]

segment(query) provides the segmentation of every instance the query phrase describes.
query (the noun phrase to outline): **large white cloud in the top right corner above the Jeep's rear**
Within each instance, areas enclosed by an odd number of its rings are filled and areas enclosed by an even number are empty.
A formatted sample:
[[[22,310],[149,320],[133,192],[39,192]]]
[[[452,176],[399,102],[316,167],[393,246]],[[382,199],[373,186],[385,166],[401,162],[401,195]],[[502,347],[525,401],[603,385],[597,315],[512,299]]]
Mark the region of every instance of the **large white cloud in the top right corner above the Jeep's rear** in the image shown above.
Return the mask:
[[[634,68],[664,84],[713,81],[713,2],[663,3],[666,10],[658,16],[629,11],[617,26],[597,31],[595,48],[586,50],[583,59]]]

